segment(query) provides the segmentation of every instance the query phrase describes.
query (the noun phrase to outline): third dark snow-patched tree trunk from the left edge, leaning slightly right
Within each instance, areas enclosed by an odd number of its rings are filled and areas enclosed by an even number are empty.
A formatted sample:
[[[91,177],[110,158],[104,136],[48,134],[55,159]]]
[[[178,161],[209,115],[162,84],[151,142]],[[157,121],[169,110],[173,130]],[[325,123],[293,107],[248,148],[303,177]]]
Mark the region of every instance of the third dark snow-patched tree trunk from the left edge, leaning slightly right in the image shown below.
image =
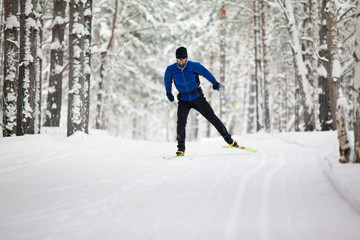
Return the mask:
[[[50,78],[44,126],[59,127],[62,99],[62,72],[64,64],[65,0],[54,0]]]

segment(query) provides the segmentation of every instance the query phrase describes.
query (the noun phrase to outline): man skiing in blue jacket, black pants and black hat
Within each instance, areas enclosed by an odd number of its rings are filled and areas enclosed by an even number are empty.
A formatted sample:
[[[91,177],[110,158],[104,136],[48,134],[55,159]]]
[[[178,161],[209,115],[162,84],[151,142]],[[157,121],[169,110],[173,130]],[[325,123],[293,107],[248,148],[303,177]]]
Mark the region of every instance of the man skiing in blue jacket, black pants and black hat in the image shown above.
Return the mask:
[[[221,134],[224,140],[233,147],[238,147],[235,140],[227,131],[221,120],[215,115],[214,110],[206,101],[200,88],[199,75],[205,77],[213,84],[214,90],[220,90],[220,83],[215,77],[200,63],[188,61],[188,54],[185,47],[176,49],[176,63],[168,66],[165,71],[164,82],[166,96],[170,102],[174,101],[174,95],[171,93],[172,83],[179,91],[177,96],[177,156],[184,156],[185,153],[185,127],[187,117],[192,108],[201,113]]]

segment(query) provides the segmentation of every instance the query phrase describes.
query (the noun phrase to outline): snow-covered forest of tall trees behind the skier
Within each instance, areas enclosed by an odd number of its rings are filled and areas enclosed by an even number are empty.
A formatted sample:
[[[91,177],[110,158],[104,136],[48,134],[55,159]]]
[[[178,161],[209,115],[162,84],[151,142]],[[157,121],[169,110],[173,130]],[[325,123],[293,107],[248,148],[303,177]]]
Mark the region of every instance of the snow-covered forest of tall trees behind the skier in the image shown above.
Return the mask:
[[[185,46],[235,103],[200,79],[232,134],[336,131],[340,162],[359,163],[359,15],[356,0],[3,0],[2,136],[174,141],[164,72]],[[218,133],[193,111],[187,135]]]

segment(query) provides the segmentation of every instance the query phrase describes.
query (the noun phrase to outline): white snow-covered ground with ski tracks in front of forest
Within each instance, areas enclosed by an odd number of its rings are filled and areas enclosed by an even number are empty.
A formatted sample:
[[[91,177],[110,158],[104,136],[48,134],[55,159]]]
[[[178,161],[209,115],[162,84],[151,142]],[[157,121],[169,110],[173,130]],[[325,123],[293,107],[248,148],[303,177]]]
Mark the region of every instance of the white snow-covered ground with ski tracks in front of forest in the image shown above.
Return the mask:
[[[358,240],[360,165],[335,132],[187,144],[0,138],[0,239]]]

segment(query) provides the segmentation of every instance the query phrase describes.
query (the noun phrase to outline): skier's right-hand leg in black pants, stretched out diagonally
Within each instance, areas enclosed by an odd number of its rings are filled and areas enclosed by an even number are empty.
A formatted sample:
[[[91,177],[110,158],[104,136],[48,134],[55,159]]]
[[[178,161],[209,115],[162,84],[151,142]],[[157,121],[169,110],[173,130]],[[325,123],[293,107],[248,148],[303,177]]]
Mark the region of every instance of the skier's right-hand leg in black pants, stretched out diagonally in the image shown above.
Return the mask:
[[[221,122],[221,120],[216,116],[214,110],[210,106],[210,104],[206,101],[205,97],[200,97],[194,101],[194,109],[199,111],[201,115],[203,115],[215,128],[216,130],[223,136],[224,140],[228,144],[233,144],[233,139],[231,138],[230,133],[227,131],[225,125]]]

